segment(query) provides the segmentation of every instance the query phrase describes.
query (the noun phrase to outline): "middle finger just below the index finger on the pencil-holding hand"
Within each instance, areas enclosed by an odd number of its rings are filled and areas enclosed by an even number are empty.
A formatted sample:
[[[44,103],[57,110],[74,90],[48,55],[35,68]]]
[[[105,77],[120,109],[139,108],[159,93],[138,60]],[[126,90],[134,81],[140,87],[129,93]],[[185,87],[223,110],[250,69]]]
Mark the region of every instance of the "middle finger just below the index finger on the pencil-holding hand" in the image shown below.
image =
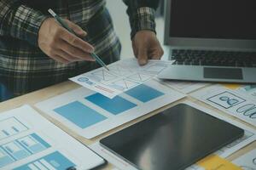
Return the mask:
[[[67,54],[73,56],[73,58],[95,61],[95,59],[93,59],[89,53],[85,53],[81,49],[75,48],[67,42],[61,42],[59,48],[61,48],[61,50],[66,52]]]

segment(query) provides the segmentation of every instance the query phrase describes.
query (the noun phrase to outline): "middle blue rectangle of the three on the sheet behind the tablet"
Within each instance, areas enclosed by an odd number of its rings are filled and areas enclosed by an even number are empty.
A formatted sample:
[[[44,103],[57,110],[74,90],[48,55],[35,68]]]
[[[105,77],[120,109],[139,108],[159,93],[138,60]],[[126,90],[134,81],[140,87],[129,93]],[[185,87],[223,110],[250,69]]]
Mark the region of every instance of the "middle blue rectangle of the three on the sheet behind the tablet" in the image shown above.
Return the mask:
[[[119,96],[109,99],[102,94],[92,94],[85,99],[88,99],[91,103],[100,106],[102,109],[112,113],[113,115],[118,115],[119,113],[128,111],[137,106]]]

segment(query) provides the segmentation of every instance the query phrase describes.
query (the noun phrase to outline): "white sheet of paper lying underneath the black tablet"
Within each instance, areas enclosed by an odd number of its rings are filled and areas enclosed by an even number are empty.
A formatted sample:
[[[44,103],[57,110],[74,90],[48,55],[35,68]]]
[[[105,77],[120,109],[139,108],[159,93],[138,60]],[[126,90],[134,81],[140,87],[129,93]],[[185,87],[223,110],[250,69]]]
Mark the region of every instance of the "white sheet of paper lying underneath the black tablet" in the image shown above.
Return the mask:
[[[237,139],[236,141],[232,142],[231,144],[224,146],[224,148],[218,150],[214,154],[225,158],[227,156],[230,156],[237,150],[240,150],[242,147],[246,146],[247,144],[250,144],[254,140],[256,140],[256,131],[253,130],[253,128],[247,127],[247,126],[241,124],[240,122],[233,121],[229,117],[221,116],[218,113],[211,111],[201,105],[196,105],[189,101],[186,101],[183,103],[185,103],[187,105],[191,105],[200,111],[204,111],[209,115],[218,117],[219,119],[222,119],[225,122],[230,122],[231,124],[235,125],[236,127],[241,127],[242,129],[245,130],[245,135],[241,139]],[[218,138],[218,137],[216,137],[216,138]],[[107,161],[111,162],[114,166],[119,167],[120,169],[124,169],[124,170],[136,169],[135,167],[131,166],[131,164],[129,164],[127,161],[121,159],[119,156],[116,156],[112,152],[103,148],[101,146],[101,144],[99,144],[99,143],[91,144],[89,147],[91,150],[96,151],[96,153],[98,153],[100,156],[104,157]],[[193,166],[186,168],[186,170],[201,170],[201,169],[204,169],[204,168],[199,167],[197,165],[193,165]]]

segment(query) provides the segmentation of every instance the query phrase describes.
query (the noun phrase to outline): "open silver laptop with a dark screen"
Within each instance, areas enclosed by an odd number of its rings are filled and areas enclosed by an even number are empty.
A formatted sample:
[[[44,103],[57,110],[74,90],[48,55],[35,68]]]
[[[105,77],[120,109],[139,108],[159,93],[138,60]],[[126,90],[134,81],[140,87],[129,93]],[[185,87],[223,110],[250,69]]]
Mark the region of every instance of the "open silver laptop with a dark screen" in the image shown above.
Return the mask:
[[[256,1],[167,0],[165,44],[159,78],[256,83]]]

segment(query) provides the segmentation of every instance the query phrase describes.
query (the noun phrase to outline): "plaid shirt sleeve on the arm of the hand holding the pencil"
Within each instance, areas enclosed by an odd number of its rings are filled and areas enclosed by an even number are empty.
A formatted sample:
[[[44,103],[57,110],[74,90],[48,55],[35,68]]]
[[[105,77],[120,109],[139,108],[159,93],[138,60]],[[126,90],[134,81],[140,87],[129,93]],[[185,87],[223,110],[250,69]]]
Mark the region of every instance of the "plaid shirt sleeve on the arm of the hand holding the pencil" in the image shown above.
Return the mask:
[[[38,31],[47,17],[18,0],[0,0],[0,35],[25,40],[38,46]]]

